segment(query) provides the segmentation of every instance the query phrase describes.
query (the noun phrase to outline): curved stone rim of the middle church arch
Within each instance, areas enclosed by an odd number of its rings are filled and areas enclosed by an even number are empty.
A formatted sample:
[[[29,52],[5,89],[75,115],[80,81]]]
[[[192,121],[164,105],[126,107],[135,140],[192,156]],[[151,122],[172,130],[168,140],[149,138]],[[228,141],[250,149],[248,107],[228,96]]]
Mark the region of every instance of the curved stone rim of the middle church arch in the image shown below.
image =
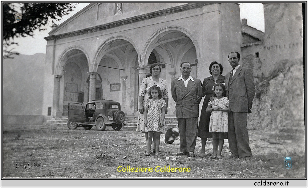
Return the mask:
[[[139,55],[139,49],[137,48],[136,44],[133,42],[133,40],[129,37],[123,36],[123,35],[119,35],[119,36],[115,36],[115,37],[110,37],[108,38],[106,41],[103,42],[102,45],[99,46],[99,49],[97,50],[95,57],[94,57],[94,65],[91,66],[89,69],[91,69],[90,71],[95,71],[98,68],[99,62],[102,59],[102,57],[105,55],[105,48],[106,45],[111,42],[111,41],[115,41],[115,40],[125,40],[128,41],[136,50],[138,57],[140,57]],[[122,61],[120,61],[122,64],[122,67],[125,67],[124,63]]]

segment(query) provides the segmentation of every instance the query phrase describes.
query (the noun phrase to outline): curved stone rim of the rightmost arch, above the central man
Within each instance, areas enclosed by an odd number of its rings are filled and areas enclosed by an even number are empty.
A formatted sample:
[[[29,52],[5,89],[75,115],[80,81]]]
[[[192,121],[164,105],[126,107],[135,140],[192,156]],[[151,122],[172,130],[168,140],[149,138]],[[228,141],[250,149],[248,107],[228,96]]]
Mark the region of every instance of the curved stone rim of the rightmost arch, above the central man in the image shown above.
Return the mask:
[[[192,40],[193,45],[195,46],[197,58],[200,58],[200,56],[201,56],[200,47],[197,43],[196,38],[189,31],[187,31],[187,29],[185,29],[184,27],[177,26],[177,25],[170,25],[168,27],[158,29],[148,39],[148,41],[144,45],[144,49],[141,52],[140,59],[139,59],[139,65],[146,65],[145,63],[147,63],[147,62],[145,60],[148,59],[149,54],[150,54],[149,48],[152,45],[153,41],[156,39],[156,37],[158,37],[160,34],[164,33],[165,31],[171,31],[171,30],[180,31],[180,32],[186,34]],[[152,50],[151,50],[151,52],[152,52]]]

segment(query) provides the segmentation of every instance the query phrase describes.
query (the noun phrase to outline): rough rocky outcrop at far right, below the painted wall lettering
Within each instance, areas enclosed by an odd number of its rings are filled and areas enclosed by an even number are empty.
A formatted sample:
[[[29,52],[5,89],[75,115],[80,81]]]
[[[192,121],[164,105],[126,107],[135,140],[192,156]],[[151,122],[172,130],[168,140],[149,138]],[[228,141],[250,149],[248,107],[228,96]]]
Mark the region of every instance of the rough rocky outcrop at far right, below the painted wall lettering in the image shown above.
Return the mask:
[[[304,130],[303,59],[282,60],[270,76],[255,76],[256,96],[248,129]]]

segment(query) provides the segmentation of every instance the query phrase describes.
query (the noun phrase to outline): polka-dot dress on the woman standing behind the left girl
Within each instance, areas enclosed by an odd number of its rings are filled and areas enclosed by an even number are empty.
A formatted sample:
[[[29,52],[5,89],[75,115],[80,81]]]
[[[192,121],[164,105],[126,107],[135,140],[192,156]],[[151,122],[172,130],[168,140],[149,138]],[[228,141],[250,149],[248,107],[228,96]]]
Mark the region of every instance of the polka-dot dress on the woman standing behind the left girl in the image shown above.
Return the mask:
[[[159,81],[155,82],[152,79],[152,76],[149,76],[147,78],[144,78],[140,85],[139,96],[143,96],[143,105],[145,104],[145,101],[148,100],[150,87],[152,87],[153,85],[157,85],[158,87],[160,87],[160,91],[163,93],[163,99],[164,98],[168,99],[168,90],[167,90],[166,80],[159,78]],[[148,132],[148,128],[144,126],[144,113],[141,114],[139,112],[136,131]],[[166,133],[165,126],[163,126],[163,131],[161,132],[161,134],[165,134],[165,133]]]

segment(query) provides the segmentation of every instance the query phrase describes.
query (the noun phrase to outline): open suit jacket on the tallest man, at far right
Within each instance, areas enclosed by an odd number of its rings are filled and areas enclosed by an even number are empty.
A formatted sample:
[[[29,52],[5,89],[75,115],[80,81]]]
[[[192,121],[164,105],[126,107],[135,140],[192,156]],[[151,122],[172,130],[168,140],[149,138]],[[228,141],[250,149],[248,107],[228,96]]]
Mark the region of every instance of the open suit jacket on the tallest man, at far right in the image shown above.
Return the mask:
[[[248,113],[248,108],[251,109],[252,100],[256,93],[252,70],[240,66],[229,83],[230,76],[231,71],[225,76],[226,94],[229,99],[230,109],[232,112]]]

